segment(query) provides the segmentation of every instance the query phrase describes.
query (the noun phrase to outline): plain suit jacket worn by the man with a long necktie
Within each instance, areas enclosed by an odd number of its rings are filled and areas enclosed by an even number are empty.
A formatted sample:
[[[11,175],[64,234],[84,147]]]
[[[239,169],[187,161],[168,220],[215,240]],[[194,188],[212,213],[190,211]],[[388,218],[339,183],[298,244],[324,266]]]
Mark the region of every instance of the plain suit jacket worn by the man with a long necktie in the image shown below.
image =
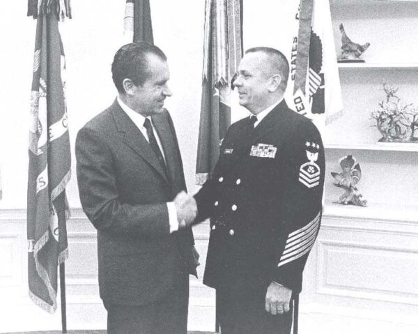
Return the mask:
[[[181,266],[196,275],[192,231],[169,232],[166,203],[185,190],[176,132],[167,110],[152,119],[168,175],[116,100],[77,135],[79,195],[98,230],[99,287],[105,303],[152,303],[171,288]]]

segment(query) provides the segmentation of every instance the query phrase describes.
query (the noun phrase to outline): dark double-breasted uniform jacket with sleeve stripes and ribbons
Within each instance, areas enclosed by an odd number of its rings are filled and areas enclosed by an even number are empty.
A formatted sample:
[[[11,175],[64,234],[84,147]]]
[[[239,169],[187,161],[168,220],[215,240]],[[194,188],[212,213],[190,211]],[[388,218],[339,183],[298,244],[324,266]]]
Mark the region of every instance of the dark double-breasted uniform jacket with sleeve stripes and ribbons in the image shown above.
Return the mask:
[[[297,294],[320,227],[323,142],[284,100],[254,130],[248,123],[229,128],[195,197],[198,220],[212,218],[203,282],[265,291],[275,281]]]

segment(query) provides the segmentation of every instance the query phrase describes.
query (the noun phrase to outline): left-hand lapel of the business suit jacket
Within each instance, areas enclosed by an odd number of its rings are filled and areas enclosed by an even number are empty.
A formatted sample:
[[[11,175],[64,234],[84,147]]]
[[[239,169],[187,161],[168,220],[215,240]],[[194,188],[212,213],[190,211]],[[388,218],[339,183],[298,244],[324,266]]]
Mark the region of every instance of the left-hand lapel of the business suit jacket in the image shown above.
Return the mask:
[[[114,105],[112,105],[112,114],[116,123],[116,128],[118,132],[123,133],[123,142],[130,146],[130,148],[141,156],[148,164],[153,167],[164,180],[167,180],[167,175],[160,165],[157,156],[155,155],[153,149],[151,149],[150,144],[146,141],[144,135],[134,122],[125,114],[121,106],[115,100]]]

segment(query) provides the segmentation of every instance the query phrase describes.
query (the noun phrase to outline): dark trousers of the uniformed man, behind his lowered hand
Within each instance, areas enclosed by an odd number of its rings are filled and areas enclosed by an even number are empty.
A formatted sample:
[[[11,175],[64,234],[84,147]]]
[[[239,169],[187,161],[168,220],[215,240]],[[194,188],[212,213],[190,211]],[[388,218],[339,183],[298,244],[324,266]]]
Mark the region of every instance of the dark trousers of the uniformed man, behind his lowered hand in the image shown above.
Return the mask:
[[[293,308],[284,314],[265,311],[266,289],[217,289],[217,314],[222,334],[290,334]]]

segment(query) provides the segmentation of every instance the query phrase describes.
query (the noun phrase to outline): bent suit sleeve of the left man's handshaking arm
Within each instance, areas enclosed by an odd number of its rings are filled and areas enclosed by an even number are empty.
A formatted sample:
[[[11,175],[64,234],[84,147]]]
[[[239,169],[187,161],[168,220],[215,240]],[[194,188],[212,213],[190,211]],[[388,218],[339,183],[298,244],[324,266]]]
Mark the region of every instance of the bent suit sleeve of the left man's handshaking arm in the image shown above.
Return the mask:
[[[170,233],[167,204],[132,205],[121,202],[114,156],[97,131],[86,127],[79,130],[75,153],[80,200],[96,229],[112,234],[144,236]]]

